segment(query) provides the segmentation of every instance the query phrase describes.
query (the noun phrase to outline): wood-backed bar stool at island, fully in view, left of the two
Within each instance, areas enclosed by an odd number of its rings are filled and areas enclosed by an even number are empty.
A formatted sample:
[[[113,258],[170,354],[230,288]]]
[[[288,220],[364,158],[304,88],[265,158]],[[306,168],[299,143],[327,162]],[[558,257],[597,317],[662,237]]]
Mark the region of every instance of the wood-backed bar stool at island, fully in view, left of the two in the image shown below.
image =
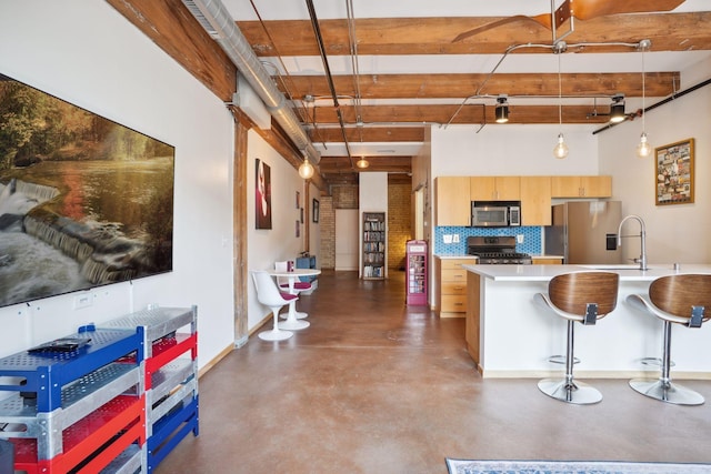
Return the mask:
[[[594,387],[573,381],[573,323],[595,324],[612,312],[618,302],[620,275],[611,272],[575,272],[554,276],[548,284],[548,294],[538,293],[535,299],[558,316],[568,320],[568,344],[565,351],[565,376],[544,379],[538,387],[553,399],[574,403],[592,404],[602,400]]]

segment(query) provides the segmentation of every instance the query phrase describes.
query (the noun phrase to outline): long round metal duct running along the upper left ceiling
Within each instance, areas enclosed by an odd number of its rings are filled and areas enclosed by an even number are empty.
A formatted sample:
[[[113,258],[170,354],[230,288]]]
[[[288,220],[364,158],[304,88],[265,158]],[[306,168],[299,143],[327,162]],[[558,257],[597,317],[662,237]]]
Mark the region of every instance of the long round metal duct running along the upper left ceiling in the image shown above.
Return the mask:
[[[222,47],[297,148],[304,152],[311,162],[318,163],[321,157],[291,110],[289,101],[277,88],[222,2],[220,0],[182,0],[182,2],[202,28]]]

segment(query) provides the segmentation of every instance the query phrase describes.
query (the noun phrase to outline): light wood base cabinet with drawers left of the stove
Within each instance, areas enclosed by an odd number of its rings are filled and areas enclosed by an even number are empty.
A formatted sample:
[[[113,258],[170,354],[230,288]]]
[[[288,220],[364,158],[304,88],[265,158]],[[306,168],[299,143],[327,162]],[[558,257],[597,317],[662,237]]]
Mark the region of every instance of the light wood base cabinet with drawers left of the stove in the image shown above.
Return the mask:
[[[435,259],[440,317],[464,317],[467,313],[467,270],[474,259]]]

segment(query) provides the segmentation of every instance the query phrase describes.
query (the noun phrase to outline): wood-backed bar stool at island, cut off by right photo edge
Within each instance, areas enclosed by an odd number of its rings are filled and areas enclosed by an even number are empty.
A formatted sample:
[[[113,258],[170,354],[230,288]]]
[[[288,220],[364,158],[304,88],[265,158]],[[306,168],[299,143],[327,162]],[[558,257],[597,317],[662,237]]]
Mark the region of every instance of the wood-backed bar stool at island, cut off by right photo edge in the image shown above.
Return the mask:
[[[671,382],[671,325],[701,327],[711,309],[711,275],[662,276],[649,285],[649,294],[631,294],[627,301],[664,322],[661,375],[658,380],[633,379],[630,386],[642,395],[677,405],[701,405],[701,394]]]

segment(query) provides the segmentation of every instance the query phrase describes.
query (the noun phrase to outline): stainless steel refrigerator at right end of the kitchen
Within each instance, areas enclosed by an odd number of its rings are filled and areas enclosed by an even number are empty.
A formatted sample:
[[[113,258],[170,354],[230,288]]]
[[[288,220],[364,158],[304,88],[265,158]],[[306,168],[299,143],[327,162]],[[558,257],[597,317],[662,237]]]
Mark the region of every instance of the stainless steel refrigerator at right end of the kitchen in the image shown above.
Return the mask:
[[[564,263],[622,263],[614,236],[622,220],[620,201],[571,201],[553,205],[553,224],[545,228],[544,250]],[[610,245],[608,245],[608,242]]]

